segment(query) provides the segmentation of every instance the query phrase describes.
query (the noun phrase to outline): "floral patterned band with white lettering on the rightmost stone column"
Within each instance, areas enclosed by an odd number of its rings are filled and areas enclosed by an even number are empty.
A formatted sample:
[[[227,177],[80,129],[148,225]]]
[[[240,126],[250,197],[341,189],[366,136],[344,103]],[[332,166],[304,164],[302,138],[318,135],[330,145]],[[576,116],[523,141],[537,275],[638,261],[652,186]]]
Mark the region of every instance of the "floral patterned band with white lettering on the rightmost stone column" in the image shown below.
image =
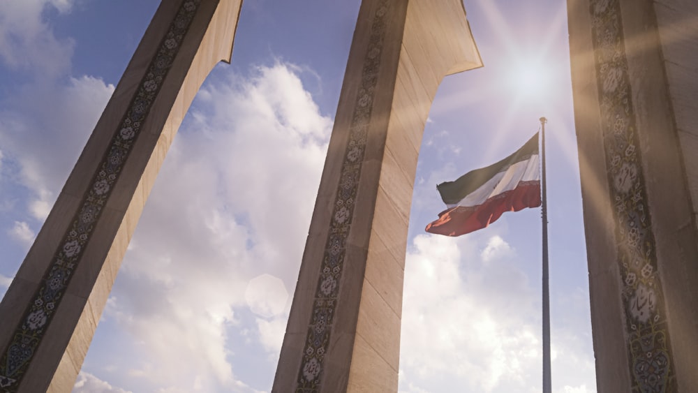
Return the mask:
[[[676,392],[618,0],[591,0],[593,45],[632,392]]]

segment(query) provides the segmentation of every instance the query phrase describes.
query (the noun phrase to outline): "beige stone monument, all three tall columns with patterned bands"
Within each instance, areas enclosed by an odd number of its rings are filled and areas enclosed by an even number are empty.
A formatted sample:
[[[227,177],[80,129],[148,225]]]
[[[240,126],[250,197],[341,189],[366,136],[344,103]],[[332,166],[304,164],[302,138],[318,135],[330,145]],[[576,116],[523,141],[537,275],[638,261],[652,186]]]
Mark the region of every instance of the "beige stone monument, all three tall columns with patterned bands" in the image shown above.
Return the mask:
[[[0,390],[68,392],[242,0],[163,1],[0,304]],[[567,0],[599,392],[698,391],[698,3]],[[422,131],[461,0],[363,0],[274,392],[396,392]]]

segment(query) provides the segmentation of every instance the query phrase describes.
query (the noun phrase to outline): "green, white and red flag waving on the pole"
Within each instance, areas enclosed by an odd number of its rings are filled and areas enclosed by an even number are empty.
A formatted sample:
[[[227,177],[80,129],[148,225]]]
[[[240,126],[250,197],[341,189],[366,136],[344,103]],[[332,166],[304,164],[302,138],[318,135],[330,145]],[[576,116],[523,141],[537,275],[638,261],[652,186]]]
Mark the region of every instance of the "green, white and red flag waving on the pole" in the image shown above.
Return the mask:
[[[460,236],[487,227],[504,212],[540,206],[538,133],[502,161],[436,186],[447,209],[426,232]]]

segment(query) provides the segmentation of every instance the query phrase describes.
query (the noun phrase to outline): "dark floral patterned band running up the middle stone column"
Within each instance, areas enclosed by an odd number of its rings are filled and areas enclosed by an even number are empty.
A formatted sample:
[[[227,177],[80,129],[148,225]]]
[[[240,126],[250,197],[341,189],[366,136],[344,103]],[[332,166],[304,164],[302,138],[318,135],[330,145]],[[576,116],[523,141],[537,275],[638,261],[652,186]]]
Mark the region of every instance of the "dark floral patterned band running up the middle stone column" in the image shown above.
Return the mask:
[[[332,208],[332,218],[322,259],[318,288],[308,327],[303,359],[298,371],[297,393],[315,393],[320,390],[323,360],[329,347],[334,315],[339,303],[339,282],[346,259],[346,245],[351,230],[359,176],[361,175],[366,133],[371,121],[373,96],[378,83],[380,55],[383,52],[388,0],[381,0],[371,22],[369,48],[364,58],[361,87],[354,105],[349,127],[349,141],[344,152],[339,186]]]

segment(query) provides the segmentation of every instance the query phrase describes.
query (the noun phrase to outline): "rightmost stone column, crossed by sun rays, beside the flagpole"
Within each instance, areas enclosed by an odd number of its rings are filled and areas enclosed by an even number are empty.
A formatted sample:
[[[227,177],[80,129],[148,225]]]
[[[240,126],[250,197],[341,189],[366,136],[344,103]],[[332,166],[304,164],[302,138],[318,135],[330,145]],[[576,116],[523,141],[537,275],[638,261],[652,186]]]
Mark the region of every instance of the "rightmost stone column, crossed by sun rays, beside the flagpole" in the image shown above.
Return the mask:
[[[567,7],[598,391],[698,392],[698,4]]]

